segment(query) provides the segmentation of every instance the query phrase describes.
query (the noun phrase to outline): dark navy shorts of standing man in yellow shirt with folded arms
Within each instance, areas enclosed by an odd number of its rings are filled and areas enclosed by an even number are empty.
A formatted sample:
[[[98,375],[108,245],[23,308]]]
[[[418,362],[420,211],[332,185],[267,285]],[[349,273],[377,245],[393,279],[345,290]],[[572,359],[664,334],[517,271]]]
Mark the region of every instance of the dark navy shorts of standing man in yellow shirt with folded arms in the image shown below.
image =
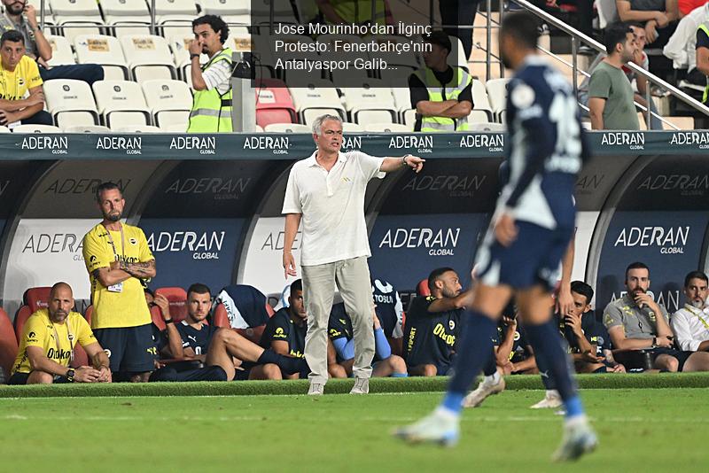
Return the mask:
[[[113,373],[146,373],[155,369],[157,350],[151,324],[137,327],[95,329],[98,345],[105,350]]]

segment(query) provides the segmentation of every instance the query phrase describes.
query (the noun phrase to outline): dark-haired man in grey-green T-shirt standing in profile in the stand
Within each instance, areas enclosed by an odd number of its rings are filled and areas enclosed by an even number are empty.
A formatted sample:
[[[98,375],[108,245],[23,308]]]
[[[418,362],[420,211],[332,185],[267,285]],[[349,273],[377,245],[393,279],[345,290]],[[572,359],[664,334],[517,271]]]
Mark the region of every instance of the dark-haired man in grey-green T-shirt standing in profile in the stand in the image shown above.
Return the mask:
[[[594,69],[588,81],[588,110],[591,126],[602,129],[640,129],[635,112],[633,88],[623,73],[623,66],[635,57],[635,35],[625,24],[605,32],[608,53]]]

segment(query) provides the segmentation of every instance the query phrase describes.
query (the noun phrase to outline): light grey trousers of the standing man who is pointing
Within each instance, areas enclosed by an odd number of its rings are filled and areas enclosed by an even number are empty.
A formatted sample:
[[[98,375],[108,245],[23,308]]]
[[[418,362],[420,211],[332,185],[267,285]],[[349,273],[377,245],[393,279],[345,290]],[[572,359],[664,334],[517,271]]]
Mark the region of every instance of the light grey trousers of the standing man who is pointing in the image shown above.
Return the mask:
[[[328,322],[335,286],[352,319],[354,337],[354,377],[371,376],[374,357],[374,330],[370,268],[362,256],[317,266],[304,266],[303,299],[308,312],[308,334],[305,337],[305,360],[308,361],[311,383],[325,384],[327,371]]]

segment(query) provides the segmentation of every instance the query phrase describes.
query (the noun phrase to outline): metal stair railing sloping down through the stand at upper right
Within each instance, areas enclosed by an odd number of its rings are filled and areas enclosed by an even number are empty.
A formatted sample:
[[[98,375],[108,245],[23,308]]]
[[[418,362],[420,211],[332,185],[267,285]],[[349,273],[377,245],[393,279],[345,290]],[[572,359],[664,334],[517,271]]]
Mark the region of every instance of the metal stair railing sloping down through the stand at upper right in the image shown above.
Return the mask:
[[[554,18],[552,15],[549,15],[549,13],[544,12],[543,10],[534,6],[534,4],[530,4],[526,0],[511,0],[511,1],[514,2],[515,4],[525,7],[526,10],[528,10],[529,12],[534,13],[536,16],[543,19],[545,22],[549,23],[550,25],[553,25],[554,27],[557,27],[558,29],[564,31],[567,35],[571,36],[571,49],[572,49],[572,63],[571,64],[569,64],[564,59],[557,57],[557,55],[553,54],[549,50],[546,50],[543,48],[540,48],[540,50],[546,54],[549,54],[553,58],[556,58],[558,61],[564,63],[566,66],[572,67],[573,90],[575,93],[577,93],[577,96],[578,96],[578,91],[579,91],[578,75],[579,75],[579,73],[581,73],[587,77],[590,77],[588,72],[581,71],[579,69],[579,65],[578,65],[579,42],[581,41],[583,43],[588,44],[588,46],[597,50],[598,52],[605,52],[604,45],[601,43],[598,43],[595,39],[589,37],[588,35],[584,35],[579,30],[577,30],[573,27],[570,27],[569,25],[565,24],[560,19]],[[655,84],[663,89],[669,90],[670,94],[673,97],[678,98],[679,100],[682,100],[682,102],[684,102],[687,105],[690,105],[690,107],[697,110],[697,112],[702,112],[707,117],[709,117],[709,107],[700,103],[695,98],[690,97],[686,93],[682,92],[682,90],[677,89],[676,87],[674,87],[674,85],[667,83],[666,81],[663,81],[657,75],[651,74],[650,71],[644,70],[643,67],[636,65],[634,62],[627,63],[627,66],[633,72],[635,72],[635,74],[643,76],[645,79],[647,79],[652,84]],[[650,91],[651,91],[651,87],[650,87],[650,84],[648,84],[648,87],[645,90],[645,101],[648,105],[651,104]],[[654,117],[657,117],[659,120],[661,120],[663,123],[666,123],[667,125],[669,125],[670,127],[674,128],[674,129],[679,129],[678,127],[676,127],[674,125],[674,123],[671,123],[671,122],[663,119],[660,115],[658,115],[658,113],[652,112],[650,109],[650,106],[645,107],[643,105],[638,104],[637,102],[635,102],[635,105],[646,113],[646,117],[647,117],[646,122],[647,122],[648,128],[650,128],[651,118],[654,116]],[[588,110],[587,107],[583,107],[583,108]]]

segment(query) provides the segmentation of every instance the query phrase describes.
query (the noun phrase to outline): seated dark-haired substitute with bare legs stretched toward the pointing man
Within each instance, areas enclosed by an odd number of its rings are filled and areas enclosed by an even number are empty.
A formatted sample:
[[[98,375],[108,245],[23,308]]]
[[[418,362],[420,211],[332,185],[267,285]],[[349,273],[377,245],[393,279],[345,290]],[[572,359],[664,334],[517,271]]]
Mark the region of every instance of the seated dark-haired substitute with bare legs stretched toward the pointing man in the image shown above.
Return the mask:
[[[206,317],[211,309],[209,288],[192,284],[187,290],[187,317],[177,324],[185,358],[202,361],[206,367],[221,367],[228,380],[281,379],[281,369],[289,374],[301,371],[304,361],[264,350],[236,330],[208,325]],[[244,362],[256,366],[245,369]]]

